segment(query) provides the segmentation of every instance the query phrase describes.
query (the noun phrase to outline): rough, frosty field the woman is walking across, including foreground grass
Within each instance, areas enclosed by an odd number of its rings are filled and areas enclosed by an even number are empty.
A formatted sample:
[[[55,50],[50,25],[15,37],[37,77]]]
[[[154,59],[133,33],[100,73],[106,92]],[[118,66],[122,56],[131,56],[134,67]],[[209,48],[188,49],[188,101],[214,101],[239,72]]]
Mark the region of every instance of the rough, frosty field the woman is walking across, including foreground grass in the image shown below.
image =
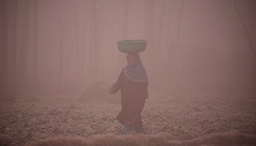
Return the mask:
[[[255,94],[150,92],[142,112],[147,134],[127,136],[116,120],[119,94],[2,95],[0,146],[256,145]]]

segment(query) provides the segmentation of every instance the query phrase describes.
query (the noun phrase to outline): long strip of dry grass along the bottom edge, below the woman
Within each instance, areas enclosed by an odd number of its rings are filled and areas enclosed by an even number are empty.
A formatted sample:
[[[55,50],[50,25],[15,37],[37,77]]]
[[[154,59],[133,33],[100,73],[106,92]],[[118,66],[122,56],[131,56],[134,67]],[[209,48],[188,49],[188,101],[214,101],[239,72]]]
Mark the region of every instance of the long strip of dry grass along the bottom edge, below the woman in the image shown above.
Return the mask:
[[[171,134],[154,135],[94,135],[89,139],[81,137],[48,138],[27,143],[26,146],[254,146],[255,135],[237,132],[208,134],[204,137],[187,141],[175,140]]]

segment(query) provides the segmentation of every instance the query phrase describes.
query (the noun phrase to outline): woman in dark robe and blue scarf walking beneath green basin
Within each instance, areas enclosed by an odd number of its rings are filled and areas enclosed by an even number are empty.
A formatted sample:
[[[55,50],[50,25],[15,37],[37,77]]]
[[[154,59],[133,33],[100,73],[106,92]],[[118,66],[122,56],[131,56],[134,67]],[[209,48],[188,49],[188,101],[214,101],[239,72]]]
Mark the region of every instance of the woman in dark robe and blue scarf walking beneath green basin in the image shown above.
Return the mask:
[[[121,91],[122,110],[117,120],[124,125],[122,134],[128,134],[132,127],[137,133],[146,134],[140,113],[148,97],[147,73],[138,53],[128,54],[126,58],[128,65],[123,68],[109,94]]]

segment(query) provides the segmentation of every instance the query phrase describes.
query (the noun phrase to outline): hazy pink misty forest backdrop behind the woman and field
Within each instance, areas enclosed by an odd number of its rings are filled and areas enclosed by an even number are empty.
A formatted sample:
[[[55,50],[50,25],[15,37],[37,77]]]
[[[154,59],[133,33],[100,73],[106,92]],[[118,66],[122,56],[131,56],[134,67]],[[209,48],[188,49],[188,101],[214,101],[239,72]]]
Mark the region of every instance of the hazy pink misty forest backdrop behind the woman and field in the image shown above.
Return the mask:
[[[117,41],[146,39],[149,89],[252,92],[255,0],[0,0],[0,91],[117,80]]]

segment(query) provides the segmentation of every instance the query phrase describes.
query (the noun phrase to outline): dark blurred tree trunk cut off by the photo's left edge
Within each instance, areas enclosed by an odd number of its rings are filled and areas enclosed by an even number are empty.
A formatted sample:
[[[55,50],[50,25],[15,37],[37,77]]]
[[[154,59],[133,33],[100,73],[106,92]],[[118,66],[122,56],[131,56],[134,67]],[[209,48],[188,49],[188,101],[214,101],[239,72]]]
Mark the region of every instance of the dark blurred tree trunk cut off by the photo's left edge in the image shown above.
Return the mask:
[[[0,92],[8,87],[7,0],[0,1]]]

